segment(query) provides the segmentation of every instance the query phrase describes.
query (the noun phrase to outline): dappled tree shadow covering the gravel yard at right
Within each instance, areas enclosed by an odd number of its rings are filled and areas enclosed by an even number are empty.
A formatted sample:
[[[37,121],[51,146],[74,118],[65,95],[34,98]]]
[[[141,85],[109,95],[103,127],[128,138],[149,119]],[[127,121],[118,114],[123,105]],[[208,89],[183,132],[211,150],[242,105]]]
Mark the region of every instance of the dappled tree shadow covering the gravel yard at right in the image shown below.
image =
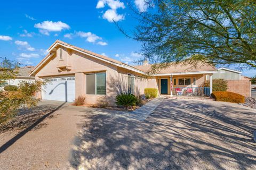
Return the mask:
[[[145,121],[85,111],[70,165],[77,169],[255,169],[252,109],[167,99]]]

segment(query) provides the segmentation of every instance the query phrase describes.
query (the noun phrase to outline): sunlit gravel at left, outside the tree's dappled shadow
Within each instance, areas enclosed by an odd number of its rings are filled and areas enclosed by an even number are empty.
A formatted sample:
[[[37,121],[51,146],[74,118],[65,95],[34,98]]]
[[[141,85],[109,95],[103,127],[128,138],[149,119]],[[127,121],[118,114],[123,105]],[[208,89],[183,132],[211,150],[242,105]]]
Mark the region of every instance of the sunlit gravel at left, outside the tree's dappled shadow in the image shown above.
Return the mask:
[[[68,168],[69,151],[79,129],[81,113],[76,107],[68,106],[69,103],[62,104],[41,103],[0,126],[1,170]]]

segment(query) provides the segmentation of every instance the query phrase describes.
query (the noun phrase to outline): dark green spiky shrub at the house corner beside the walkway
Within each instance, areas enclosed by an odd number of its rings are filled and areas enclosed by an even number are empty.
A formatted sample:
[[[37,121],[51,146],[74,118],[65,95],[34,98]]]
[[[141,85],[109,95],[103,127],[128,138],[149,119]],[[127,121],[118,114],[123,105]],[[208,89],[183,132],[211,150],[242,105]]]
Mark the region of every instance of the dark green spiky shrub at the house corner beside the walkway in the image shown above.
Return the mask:
[[[116,104],[128,107],[129,106],[135,106],[137,102],[137,97],[134,96],[133,94],[129,93],[121,93],[116,96]]]

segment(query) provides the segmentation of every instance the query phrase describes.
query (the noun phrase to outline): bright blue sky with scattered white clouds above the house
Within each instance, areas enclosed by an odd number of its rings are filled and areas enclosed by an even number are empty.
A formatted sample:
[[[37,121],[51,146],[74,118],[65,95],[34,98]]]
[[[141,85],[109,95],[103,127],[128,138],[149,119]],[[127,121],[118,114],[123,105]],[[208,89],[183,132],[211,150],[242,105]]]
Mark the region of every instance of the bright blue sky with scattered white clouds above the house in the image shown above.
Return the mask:
[[[147,10],[143,0],[131,0],[139,11]],[[0,56],[22,65],[36,65],[56,39],[134,65],[140,44],[125,37],[113,23],[125,30],[137,22],[126,0],[90,1],[3,1],[0,6]],[[255,70],[244,70],[254,76]]]

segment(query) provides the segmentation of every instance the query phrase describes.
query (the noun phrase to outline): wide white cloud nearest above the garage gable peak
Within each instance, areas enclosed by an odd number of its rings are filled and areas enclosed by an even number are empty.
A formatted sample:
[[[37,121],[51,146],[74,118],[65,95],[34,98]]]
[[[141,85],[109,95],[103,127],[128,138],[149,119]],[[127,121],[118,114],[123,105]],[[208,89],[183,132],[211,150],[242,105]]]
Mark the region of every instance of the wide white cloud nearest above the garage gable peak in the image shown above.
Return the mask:
[[[61,21],[58,21],[58,22],[43,21],[41,23],[36,23],[34,27],[38,28],[39,32],[47,36],[49,36],[50,34],[49,32],[51,31],[62,31],[65,29],[70,29],[68,24],[63,23]]]

